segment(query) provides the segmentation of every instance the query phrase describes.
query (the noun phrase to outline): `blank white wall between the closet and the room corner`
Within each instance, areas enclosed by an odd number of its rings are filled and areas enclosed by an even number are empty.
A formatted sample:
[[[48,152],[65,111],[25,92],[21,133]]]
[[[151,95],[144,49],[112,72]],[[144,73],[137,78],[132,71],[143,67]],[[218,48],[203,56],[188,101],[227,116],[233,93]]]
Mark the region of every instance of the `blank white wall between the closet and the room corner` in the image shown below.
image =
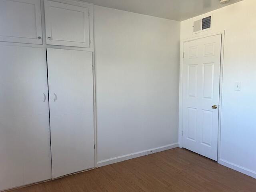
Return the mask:
[[[94,35],[98,166],[177,146],[180,22],[95,6]]]

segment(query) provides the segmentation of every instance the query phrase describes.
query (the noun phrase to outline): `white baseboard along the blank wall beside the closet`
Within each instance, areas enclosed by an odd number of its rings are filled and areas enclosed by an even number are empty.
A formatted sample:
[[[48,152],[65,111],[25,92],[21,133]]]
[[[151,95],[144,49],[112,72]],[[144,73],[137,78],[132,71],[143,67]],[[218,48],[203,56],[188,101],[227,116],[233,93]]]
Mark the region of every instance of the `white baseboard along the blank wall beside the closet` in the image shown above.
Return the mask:
[[[136,153],[131,153],[131,154],[122,155],[122,156],[119,156],[119,157],[114,157],[114,158],[102,160],[102,161],[97,162],[97,166],[102,167],[102,166],[105,166],[105,165],[109,165],[109,164],[129,160],[129,159],[133,159],[133,158],[136,158],[136,157],[141,157],[141,156],[144,156],[144,155],[149,155],[149,154],[152,154],[152,153],[165,151],[165,150],[168,150],[168,149],[176,148],[176,147],[178,147],[178,145],[179,145],[178,143],[173,143],[173,144],[169,144],[169,145],[165,145],[165,146],[161,146],[161,147],[156,147],[156,148],[152,148],[152,149],[148,149],[148,150],[144,150],[144,151],[139,151],[139,152],[136,152]]]

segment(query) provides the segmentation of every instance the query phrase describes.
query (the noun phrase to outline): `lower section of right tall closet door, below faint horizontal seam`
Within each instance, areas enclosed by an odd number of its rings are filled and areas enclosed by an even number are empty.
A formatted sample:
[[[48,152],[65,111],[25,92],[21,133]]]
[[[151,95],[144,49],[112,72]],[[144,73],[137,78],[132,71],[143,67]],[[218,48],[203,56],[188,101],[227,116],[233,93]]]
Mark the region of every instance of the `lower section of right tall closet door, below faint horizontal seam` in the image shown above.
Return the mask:
[[[54,116],[50,123],[53,178],[94,167],[94,132],[90,114]]]

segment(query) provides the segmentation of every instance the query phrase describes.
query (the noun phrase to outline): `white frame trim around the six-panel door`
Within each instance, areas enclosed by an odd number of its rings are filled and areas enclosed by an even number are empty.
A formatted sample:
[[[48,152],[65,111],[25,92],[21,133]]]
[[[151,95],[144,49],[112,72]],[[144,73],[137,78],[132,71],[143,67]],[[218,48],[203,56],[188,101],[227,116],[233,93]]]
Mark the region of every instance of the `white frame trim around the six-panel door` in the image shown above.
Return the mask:
[[[198,40],[201,38],[211,37],[221,35],[221,53],[220,53],[220,88],[219,88],[219,115],[218,115],[218,152],[217,152],[217,162],[220,161],[220,130],[221,130],[221,111],[222,111],[222,79],[223,79],[223,62],[224,62],[224,37],[225,30],[214,32],[211,34],[200,35],[193,38],[188,38],[181,40],[180,42],[180,85],[179,85],[179,123],[178,123],[178,140],[179,147],[182,147],[182,88],[183,88],[183,53],[184,53],[184,43],[190,42],[193,40]]]

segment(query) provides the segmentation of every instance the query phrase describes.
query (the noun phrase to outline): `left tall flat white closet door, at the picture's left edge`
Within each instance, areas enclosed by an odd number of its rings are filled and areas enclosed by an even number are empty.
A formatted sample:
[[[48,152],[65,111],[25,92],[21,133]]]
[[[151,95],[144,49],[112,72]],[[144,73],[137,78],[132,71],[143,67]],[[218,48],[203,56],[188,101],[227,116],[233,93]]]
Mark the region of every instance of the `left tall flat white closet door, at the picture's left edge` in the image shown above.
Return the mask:
[[[46,50],[0,46],[0,191],[52,178]]]

